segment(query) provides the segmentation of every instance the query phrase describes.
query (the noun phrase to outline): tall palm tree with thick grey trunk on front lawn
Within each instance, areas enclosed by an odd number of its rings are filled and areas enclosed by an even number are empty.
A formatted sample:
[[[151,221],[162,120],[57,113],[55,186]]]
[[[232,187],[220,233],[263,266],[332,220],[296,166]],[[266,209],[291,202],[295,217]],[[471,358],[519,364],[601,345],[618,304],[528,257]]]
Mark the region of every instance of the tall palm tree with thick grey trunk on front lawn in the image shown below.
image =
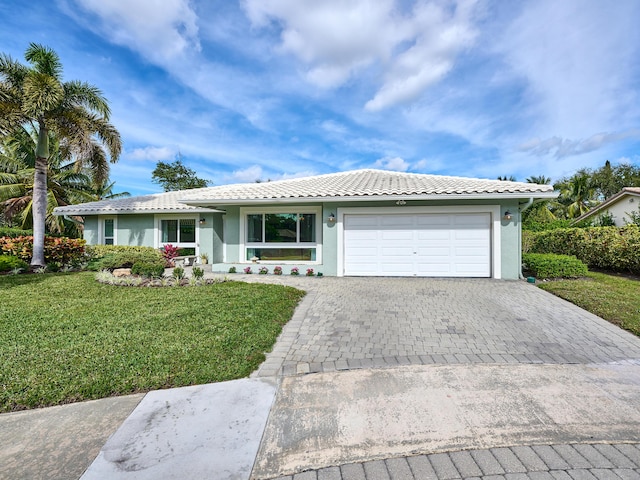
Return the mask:
[[[23,65],[0,54],[0,135],[30,125],[38,133],[32,193],[32,266],[44,265],[44,235],[47,213],[47,169],[49,134],[69,152],[76,172],[91,168],[96,178],[108,177],[106,158],[96,154],[104,146],[111,161],[117,161],[122,144],[120,134],[109,123],[109,105],[100,90],[79,81],[62,81],[62,64],[51,49],[32,43]],[[107,167],[107,168],[105,168]]]

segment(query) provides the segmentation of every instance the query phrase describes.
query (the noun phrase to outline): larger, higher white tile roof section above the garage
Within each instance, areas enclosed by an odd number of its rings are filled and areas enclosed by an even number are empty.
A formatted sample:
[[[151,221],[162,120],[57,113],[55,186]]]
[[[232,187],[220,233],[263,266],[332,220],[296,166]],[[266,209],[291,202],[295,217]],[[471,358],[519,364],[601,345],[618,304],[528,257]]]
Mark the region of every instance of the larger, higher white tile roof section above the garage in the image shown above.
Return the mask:
[[[354,199],[367,197],[495,197],[500,194],[522,197],[555,197],[551,185],[448,177],[385,170],[354,170],[274,182],[210,187],[185,192],[183,202],[231,204],[254,200]]]

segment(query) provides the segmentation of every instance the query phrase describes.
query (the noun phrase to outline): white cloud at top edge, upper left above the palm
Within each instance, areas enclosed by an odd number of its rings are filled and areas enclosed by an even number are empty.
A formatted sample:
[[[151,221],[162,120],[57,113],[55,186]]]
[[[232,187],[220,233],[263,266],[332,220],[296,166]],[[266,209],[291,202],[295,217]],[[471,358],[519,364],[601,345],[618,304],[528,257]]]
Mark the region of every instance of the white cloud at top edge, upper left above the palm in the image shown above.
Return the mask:
[[[188,0],[75,0],[98,16],[105,35],[118,45],[164,63],[199,51],[197,16]]]

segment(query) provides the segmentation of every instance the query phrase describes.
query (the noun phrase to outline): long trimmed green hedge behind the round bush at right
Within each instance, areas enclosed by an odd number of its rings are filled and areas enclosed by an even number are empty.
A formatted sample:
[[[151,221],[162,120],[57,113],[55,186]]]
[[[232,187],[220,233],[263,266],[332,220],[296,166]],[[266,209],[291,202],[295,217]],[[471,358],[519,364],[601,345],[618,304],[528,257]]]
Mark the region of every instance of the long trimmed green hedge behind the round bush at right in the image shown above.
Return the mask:
[[[640,274],[640,227],[561,228],[523,237],[525,253],[575,255],[590,268]]]

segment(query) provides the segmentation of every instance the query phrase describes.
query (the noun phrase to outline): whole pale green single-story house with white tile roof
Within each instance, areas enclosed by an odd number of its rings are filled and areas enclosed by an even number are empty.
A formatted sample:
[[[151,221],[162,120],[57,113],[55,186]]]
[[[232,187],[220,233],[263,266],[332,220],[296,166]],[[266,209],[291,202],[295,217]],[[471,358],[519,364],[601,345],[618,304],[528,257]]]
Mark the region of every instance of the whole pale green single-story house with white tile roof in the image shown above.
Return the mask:
[[[516,279],[520,212],[549,185],[356,170],[58,207],[89,244],[166,243],[213,271],[259,262],[337,276]],[[255,269],[257,270],[257,268]]]

